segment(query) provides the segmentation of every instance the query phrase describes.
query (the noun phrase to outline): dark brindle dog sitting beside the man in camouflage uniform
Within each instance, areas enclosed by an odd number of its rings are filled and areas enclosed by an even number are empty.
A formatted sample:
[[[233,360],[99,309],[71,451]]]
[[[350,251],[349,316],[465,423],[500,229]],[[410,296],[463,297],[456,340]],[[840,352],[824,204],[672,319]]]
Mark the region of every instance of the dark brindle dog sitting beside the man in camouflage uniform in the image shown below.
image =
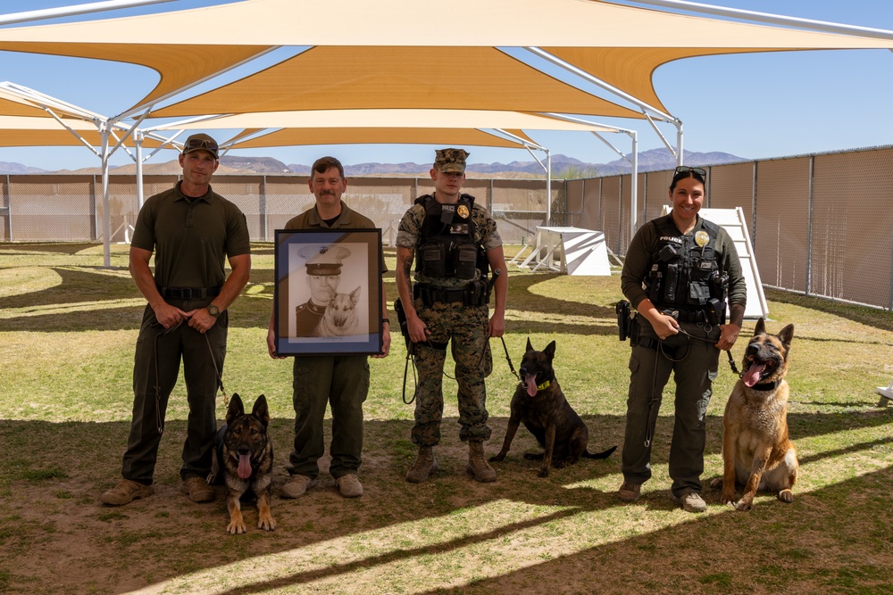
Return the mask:
[[[502,450],[490,457],[491,461],[505,459],[518,426],[524,426],[536,437],[543,447],[542,453],[525,453],[524,459],[539,460],[539,476],[547,477],[549,467],[562,468],[573,465],[580,457],[586,459],[607,459],[617,449],[616,446],[598,452],[586,450],[589,433],[586,424],[564,398],[564,393],[552,360],[555,359],[555,341],[543,351],[535,351],[527,339],[527,351],[521,360],[521,382],[512,397],[512,413],[505,430]]]

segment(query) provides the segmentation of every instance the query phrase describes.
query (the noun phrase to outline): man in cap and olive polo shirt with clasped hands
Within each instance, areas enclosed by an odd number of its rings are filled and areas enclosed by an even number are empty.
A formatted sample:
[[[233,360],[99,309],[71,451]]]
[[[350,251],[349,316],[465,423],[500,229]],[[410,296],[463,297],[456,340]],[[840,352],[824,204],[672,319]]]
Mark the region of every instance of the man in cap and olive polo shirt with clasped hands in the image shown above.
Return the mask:
[[[148,304],[134,358],[133,418],[123,478],[100,498],[111,506],[154,492],[164,412],[180,359],[189,403],[181,491],[194,502],[214,499],[204,478],[211,470],[217,433],[214,409],[226,356],[227,307],[248,281],[251,248],[245,215],[211,189],[220,164],[213,138],[189,136],[179,164],[182,179],[146,200],[130,243],[130,276]],[[154,276],[149,268],[153,252]],[[224,257],[230,277],[223,269]]]

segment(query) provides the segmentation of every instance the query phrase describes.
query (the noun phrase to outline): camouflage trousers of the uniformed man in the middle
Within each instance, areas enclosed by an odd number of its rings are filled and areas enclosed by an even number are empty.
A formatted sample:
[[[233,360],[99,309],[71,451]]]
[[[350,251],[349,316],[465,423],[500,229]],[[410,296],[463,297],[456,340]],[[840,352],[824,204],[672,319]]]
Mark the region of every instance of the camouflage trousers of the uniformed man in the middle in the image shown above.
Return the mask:
[[[416,343],[414,349],[419,381],[415,387],[413,443],[434,446],[440,442],[447,343],[452,344],[455,360],[461,426],[459,439],[463,442],[488,440],[490,428],[487,425],[484,378],[493,371],[493,358],[488,341],[487,306],[435,302],[428,308],[421,300],[416,300],[415,311],[428,325],[431,334],[427,343]]]

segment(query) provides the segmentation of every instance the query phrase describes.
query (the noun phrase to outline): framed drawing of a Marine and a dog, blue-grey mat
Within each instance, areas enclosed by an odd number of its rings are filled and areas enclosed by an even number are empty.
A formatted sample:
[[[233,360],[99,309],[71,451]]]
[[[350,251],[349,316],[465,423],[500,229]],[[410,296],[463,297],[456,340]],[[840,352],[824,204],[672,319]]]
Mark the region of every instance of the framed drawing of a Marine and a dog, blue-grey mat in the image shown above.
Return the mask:
[[[277,229],[276,353],[380,353],[381,261],[380,229]]]

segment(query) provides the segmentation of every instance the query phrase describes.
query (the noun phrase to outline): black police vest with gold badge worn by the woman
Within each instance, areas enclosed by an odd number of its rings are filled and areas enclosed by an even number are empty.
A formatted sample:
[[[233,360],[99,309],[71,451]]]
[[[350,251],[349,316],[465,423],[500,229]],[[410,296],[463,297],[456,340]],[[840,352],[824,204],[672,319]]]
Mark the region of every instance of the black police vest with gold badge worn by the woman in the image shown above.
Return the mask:
[[[651,253],[646,288],[658,309],[704,309],[712,299],[725,302],[729,277],[716,261],[719,227],[702,219],[703,229],[680,236],[672,214],[655,219],[658,241]]]

